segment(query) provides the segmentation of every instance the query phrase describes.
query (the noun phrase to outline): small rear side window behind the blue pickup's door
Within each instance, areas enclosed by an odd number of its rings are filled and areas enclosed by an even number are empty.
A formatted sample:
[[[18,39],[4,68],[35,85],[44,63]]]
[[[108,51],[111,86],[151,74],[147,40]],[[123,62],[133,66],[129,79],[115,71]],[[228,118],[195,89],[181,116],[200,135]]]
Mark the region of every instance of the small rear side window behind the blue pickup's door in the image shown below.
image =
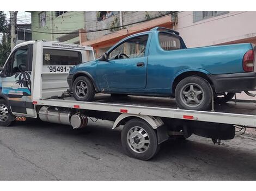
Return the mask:
[[[171,34],[159,33],[159,43],[163,50],[181,49],[180,39]]]

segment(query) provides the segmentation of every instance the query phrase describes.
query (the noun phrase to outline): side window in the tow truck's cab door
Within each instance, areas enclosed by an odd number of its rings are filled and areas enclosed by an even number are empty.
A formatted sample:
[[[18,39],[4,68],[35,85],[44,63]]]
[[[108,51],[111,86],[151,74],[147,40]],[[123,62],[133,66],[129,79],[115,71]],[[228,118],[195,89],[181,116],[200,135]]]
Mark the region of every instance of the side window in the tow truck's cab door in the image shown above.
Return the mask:
[[[5,75],[11,76],[15,73],[25,72],[27,70],[28,64],[28,48],[21,47],[10,56],[7,67],[5,70]]]

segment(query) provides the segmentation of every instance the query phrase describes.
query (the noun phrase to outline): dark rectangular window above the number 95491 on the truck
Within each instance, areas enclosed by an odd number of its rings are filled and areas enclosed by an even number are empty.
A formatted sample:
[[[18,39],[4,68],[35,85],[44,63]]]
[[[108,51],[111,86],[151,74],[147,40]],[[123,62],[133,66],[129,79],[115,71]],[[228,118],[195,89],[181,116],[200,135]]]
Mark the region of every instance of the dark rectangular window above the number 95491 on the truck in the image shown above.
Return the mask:
[[[81,52],[72,50],[44,49],[43,65],[78,65],[82,63]]]

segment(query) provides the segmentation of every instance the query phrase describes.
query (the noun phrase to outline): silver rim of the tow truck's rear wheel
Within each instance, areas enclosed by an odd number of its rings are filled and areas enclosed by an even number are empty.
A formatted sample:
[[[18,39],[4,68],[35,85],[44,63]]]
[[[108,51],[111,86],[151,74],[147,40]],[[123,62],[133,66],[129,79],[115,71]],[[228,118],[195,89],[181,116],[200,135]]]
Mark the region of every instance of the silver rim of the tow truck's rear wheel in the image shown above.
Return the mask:
[[[131,128],[127,133],[127,143],[135,152],[142,153],[147,151],[150,144],[148,132],[140,126]]]

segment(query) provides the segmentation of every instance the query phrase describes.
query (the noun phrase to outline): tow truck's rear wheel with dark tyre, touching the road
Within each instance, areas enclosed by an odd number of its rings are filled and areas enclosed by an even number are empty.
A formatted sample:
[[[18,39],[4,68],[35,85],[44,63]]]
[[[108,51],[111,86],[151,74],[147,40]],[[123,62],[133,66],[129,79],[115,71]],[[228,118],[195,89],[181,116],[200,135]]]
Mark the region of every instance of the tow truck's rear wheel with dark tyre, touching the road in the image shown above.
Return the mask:
[[[127,155],[147,161],[159,151],[154,129],[142,119],[131,119],[124,125],[121,142]]]

